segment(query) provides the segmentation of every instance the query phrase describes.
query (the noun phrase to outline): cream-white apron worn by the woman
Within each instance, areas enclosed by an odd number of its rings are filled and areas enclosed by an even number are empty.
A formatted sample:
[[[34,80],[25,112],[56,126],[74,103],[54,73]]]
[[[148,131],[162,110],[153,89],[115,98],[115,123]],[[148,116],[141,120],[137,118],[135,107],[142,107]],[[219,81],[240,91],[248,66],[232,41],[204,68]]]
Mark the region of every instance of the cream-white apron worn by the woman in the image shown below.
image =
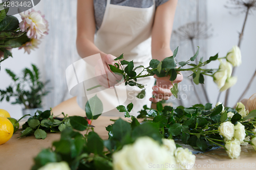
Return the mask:
[[[134,67],[143,65],[147,67],[152,59],[151,55],[151,31],[155,16],[154,5],[149,8],[134,8],[110,4],[107,1],[103,21],[100,29],[97,31],[94,43],[100,51],[106,54],[112,54],[116,57],[122,53],[124,60],[134,61]],[[94,75],[93,67],[88,66],[88,74]],[[140,70],[136,70],[138,73]],[[149,98],[152,97],[152,87],[155,79],[153,77],[139,78],[138,83],[146,85],[146,95],[144,99],[136,98],[141,91],[138,87],[131,87],[124,84],[115,86],[115,89],[108,89],[97,93],[97,96],[103,103],[103,113],[105,116],[124,116],[123,113],[113,109],[118,105],[127,106],[131,102],[134,108],[131,115],[137,116],[143,107],[151,107]],[[113,95],[114,91],[114,95]],[[124,94],[125,93],[125,94]],[[119,96],[122,94],[124,98]],[[117,96],[118,95],[118,96]],[[87,97],[90,99],[93,95]],[[126,96],[126,100],[125,99]],[[104,98],[104,99],[103,99]],[[78,105],[84,109],[86,97],[77,97]],[[107,109],[107,108],[111,108]]]

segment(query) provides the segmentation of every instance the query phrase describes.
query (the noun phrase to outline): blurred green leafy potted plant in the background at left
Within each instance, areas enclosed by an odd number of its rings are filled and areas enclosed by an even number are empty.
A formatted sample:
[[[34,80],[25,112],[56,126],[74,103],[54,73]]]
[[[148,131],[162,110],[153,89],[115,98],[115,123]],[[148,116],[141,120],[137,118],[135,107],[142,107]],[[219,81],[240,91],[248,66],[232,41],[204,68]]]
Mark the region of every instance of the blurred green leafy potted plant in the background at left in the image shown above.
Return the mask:
[[[23,105],[23,115],[32,115],[36,110],[42,110],[42,97],[49,92],[45,89],[48,82],[41,82],[39,69],[34,64],[32,64],[32,67],[33,69],[24,68],[20,77],[6,69],[13,82],[6,90],[0,90],[0,101],[6,99],[9,102],[10,98],[15,98],[15,102],[12,102],[12,104]]]

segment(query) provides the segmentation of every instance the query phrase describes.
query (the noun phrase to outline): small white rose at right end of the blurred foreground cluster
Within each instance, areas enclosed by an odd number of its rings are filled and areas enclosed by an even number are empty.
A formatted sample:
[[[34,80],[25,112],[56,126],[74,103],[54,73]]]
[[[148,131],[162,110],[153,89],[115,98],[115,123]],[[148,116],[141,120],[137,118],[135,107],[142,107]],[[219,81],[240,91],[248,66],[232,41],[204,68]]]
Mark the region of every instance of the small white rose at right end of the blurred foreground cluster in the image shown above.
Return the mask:
[[[196,156],[193,155],[192,152],[190,152],[187,148],[177,148],[174,155],[177,163],[184,165],[182,169],[188,169],[189,167],[193,167],[196,162]]]

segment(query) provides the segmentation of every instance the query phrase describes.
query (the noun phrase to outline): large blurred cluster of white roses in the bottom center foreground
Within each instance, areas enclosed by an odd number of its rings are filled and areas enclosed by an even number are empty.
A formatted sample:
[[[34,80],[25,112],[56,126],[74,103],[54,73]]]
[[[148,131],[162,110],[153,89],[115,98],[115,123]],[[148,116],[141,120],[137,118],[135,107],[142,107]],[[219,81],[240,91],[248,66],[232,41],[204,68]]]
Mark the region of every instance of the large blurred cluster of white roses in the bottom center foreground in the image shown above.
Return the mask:
[[[187,148],[176,148],[173,139],[162,139],[163,144],[150,137],[141,137],[113,154],[113,168],[122,169],[189,169],[196,156]]]

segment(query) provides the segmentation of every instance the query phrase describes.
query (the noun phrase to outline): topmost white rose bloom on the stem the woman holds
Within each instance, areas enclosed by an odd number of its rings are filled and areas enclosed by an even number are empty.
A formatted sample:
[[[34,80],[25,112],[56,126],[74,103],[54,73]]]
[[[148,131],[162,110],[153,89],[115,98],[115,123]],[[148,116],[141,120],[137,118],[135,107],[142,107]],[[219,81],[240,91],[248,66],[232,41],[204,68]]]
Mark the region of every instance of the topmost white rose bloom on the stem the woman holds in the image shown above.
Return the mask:
[[[227,53],[227,61],[233,66],[239,66],[242,64],[241,51],[237,45],[233,46],[232,49]]]

